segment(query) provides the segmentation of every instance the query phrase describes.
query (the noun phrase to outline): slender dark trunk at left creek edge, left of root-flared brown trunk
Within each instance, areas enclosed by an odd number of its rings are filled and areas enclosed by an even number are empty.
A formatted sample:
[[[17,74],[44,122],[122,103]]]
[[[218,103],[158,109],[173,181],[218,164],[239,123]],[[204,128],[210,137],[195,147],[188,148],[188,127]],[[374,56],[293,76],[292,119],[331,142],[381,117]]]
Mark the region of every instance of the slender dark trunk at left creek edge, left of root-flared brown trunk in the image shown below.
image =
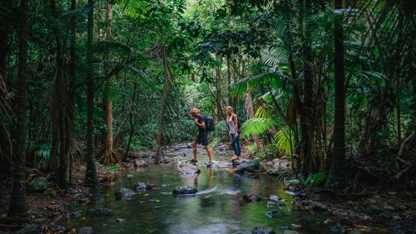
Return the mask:
[[[94,37],[94,0],[88,0],[87,20],[87,171],[85,172],[85,184],[97,185],[97,173],[95,167],[94,151],[94,72],[92,40]]]

